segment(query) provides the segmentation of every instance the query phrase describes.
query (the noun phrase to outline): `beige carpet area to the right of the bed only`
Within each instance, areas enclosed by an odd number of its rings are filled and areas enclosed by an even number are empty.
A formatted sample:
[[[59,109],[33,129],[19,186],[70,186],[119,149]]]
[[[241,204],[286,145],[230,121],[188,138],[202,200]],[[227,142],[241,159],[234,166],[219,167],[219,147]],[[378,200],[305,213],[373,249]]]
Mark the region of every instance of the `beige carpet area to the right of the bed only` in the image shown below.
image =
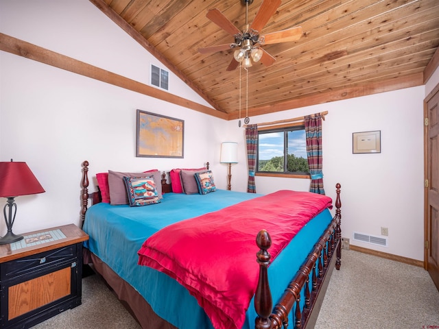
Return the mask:
[[[439,328],[439,292],[427,271],[342,250],[316,329]]]

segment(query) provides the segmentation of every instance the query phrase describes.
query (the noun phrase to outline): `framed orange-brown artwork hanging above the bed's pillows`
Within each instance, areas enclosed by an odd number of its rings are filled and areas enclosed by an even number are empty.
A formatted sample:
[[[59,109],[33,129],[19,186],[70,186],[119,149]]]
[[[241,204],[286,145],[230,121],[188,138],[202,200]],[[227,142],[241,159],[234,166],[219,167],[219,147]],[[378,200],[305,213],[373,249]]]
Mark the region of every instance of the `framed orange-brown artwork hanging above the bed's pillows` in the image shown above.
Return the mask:
[[[137,110],[136,156],[183,158],[185,121]]]

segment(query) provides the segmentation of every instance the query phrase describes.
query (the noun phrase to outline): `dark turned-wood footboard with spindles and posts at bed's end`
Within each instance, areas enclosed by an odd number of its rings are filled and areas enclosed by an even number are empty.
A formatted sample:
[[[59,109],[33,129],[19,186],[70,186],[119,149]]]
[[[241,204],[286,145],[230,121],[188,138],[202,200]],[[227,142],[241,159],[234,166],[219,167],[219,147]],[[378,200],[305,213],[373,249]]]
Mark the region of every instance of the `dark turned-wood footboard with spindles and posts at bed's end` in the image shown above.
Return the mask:
[[[313,250],[289,283],[281,299],[272,308],[272,295],[268,284],[268,265],[270,265],[270,234],[262,230],[257,235],[259,263],[259,282],[254,295],[254,308],[258,314],[256,329],[281,328],[288,324],[288,314],[294,310],[294,328],[313,328],[318,317],[324,293],[327,289],[333,268],[340,269],[342,258],[342,230],[340,228],[342,202],[340,184],[336,184],[335,216],[314,245]],[[311,275],[310,275],[311,274]],[[310,281],[311,277],[311,282]],[[305,301],[300,303],[303,296]],[[300,306],[302,304],[302,306]],[[296,306],[296,308],[294,308]]]

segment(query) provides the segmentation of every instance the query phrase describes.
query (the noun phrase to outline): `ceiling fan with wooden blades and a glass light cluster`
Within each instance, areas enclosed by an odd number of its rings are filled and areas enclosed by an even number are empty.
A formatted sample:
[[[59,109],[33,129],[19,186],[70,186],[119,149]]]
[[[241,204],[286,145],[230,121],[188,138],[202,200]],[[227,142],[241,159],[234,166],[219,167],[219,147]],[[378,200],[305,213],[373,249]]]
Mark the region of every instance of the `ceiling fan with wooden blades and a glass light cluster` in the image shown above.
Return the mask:
[[[248,24],[248,5],[252,4],[253,0],[241,0],[241,2],[243,5],[246,5],[246,25],[244,25],[242,31],[216,8],[209,10],[206,14],[208,19],[232,35],[235,38],[235,42],[198,49],[200,53],[213,53],[237,48],[235,53],[233,53],[234,59],[228,65],[227,71],[235,70],[239,63],[245,68],[250,67],[252,66],[252,61],[259,62],[259,60],[264,65],[270,66],[276,58],[259,46],[295,41],[302,36],[302,27],[300,26],[272,32],[263,36],[259,35],[261,29],[276,12],[279,5],[281,5],[281,0],[263,0],[251,25]]]

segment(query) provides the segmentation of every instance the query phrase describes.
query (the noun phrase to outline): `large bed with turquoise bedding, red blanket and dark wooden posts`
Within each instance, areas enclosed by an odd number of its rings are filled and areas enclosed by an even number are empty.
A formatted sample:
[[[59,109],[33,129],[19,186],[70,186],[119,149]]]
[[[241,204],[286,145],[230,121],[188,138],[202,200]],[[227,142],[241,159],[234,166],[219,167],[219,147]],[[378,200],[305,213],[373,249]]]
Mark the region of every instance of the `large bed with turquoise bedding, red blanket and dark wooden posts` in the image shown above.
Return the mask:
[[[160,202],[112,206],[101,202],[101,191],[88,193],[88,167],[84,161],[85,263],[142,328],[313,328],[341,265],[340,184],[334,216],[329,198],[313,193],[173,193],[165,173],[155,180]],[[298,212],[312,215],[293,229]],[[203,227],[215,234],[204,236]],[[241,235],[229,239],[229,232]]]

